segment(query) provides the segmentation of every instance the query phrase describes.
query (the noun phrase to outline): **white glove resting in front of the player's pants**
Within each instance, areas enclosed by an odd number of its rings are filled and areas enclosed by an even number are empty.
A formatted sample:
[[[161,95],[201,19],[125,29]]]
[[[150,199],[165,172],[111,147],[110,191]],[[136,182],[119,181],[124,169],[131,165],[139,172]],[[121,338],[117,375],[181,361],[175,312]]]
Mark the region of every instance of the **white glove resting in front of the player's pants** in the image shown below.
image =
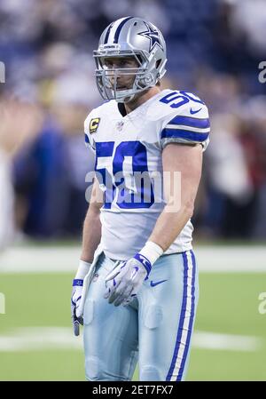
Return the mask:
[[[148,241],[134,258],[116,264],[112,272],[106,275],[105,299],[109,299],[109,303],[116,307],[129,305],[148,279],[153,263],[162,252],[159,245]]]

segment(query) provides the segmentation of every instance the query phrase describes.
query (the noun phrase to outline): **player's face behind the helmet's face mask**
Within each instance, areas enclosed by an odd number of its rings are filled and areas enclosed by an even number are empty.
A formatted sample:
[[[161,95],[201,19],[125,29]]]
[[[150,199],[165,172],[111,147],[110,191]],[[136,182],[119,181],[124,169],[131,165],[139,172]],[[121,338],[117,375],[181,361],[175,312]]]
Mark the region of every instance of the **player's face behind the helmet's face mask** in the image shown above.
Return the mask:
[[[134,69],[139,67],[137,64],[137,60],[134,57],[108,57],[104,61],[104,67],[106,70],[110,70],[108,73],[111,84],[115,82],[116,76],[116,90],[127,90],[130,89],[135,81],[135,74],[130,74],[130,69]],[[115,69],[119,69],[119,72],[115,72]],[[123,72],[122,69],[125,69]],[[134,72],[133,70],[131,72]]]

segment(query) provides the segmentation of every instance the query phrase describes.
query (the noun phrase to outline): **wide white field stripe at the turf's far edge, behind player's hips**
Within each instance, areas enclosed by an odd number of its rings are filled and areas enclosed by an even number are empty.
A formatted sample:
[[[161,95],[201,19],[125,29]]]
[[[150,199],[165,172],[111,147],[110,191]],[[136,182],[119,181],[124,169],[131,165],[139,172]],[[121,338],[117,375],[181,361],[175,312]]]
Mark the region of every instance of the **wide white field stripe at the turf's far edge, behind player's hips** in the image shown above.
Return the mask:
[[[200,272],[266,272],[266,246],[200,246]],[[0,273],[74,272],[81,247],[14,247],[0,253]]]

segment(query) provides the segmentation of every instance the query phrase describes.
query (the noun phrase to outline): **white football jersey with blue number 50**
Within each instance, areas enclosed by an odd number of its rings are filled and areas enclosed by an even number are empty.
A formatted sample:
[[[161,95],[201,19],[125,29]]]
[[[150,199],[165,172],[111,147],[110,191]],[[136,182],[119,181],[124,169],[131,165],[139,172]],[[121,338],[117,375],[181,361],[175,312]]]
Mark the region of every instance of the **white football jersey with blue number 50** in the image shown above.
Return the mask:
[[[163,148],[170,142],[200,143],[205,150],[207,107],[192,93],[164,90],[126,116],[115,100],[107,101],[90,112],[84,126],[105,193],[101,244],[107,257],[129,259],[143,248],[165,206]],[[165,253],[191,250],[192,230],[189,220]]]

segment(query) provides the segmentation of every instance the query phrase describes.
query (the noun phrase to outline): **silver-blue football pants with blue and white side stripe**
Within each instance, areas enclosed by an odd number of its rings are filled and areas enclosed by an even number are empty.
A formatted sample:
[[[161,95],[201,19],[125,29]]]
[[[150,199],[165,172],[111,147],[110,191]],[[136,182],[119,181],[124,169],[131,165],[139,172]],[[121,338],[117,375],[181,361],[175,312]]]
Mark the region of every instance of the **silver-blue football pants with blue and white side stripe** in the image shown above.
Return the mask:
[[[131,380],[138,361],[140,381],[183,380],[199,299],[193,251],[161,256],[127,307],[104,299],[114,263],[100,255],[85,301],[86,379]]]

